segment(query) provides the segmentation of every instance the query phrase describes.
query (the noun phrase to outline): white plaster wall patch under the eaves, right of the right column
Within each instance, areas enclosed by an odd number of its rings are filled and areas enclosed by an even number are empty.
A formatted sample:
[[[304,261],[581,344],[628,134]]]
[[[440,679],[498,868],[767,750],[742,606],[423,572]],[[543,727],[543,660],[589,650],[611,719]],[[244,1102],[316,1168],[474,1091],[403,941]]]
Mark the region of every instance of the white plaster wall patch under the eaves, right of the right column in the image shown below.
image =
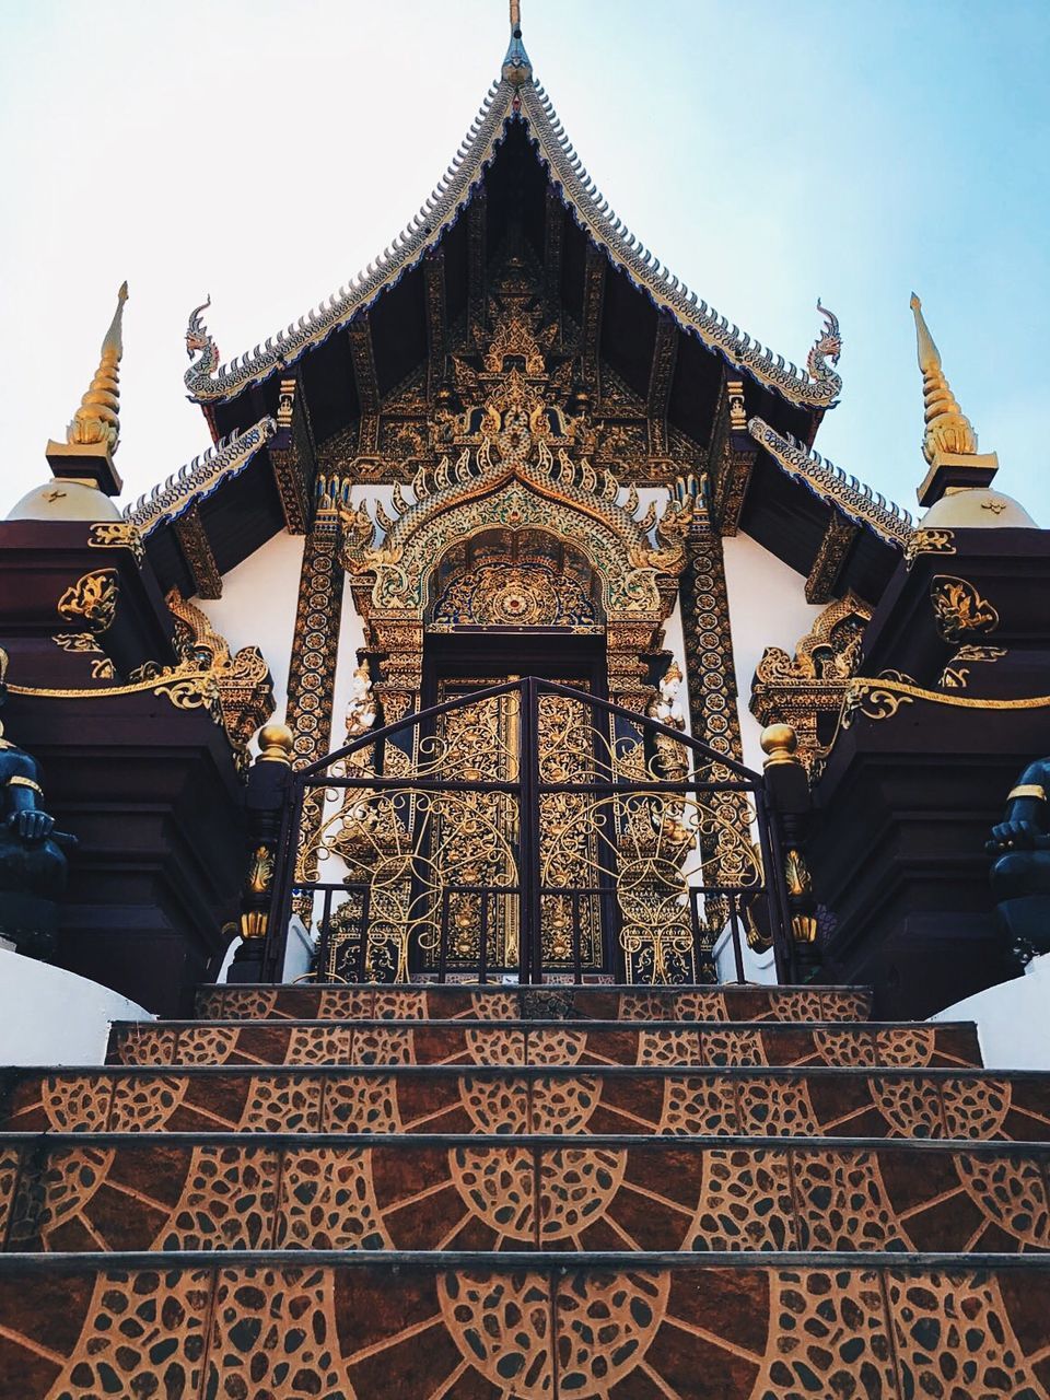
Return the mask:
[[[743,762],[749,769],[762,771],[762,725],[748,708],[755,668],[766,647],[783,647],[794,655],[795,644],[805,637],[823,608],[806,602],[801,574],[750,536],[735,535],[722,540],[722,546]]]

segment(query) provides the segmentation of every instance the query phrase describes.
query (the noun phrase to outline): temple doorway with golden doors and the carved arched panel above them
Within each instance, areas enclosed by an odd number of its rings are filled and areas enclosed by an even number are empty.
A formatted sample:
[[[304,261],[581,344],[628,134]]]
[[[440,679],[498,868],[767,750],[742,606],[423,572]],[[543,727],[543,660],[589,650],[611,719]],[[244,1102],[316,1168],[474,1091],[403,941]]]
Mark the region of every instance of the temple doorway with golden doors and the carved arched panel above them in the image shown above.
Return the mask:
[[[538,528],[477,531],[444,553],[430,599],[424,708],[525,676],[608,699],[602,588],[594,563],[573,542]],[[521,692],[510,690],[438,713],[431,742],[475,781],[521,781],[526,738],[535,743],[540,781],[592,783],[609,762],[612,735],[602,732],[603,718],[578,700],[547,693],[535,738],[522,736]],[[602,823],[588,820],[592,805],[580,792],[543,794],[532,840],[521,830],[519,806],[500,792],[435,806],[433,875],[448,904],[441,918],[448,934],[441,969],[424,939],[416,970],[470,976],[480,963],[494,976],[515,976],[521,897],[498,890],[519,885],[528,878],[524,865],[536,864],[545,976],[613,976],[615,848]]]

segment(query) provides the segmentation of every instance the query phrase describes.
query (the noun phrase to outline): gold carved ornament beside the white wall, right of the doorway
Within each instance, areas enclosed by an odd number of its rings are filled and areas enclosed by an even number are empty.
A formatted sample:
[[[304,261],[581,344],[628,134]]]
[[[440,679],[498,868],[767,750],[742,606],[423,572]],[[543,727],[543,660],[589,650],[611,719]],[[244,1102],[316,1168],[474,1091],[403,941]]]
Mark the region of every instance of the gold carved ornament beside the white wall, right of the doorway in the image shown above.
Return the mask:
[[[790,657],[767,647],[755,672],[750,713],[762,725],[790,724],[812,776],[827,756],[850,680],[861,662],[871,609],[855,594],[830,603]]]

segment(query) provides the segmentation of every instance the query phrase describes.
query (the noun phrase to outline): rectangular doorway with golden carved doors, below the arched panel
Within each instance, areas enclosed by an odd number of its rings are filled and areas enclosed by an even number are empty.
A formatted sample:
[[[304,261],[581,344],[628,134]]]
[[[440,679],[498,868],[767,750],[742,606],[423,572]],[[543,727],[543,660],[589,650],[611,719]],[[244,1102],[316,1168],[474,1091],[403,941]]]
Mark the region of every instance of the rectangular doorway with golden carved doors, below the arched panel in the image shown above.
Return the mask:
[[[542,630],[427,636],[426,707],[468,700],[476,692],[525,676],[560,682],[605,700],[605,637]],[[603,720],[599,711],[570,696],[542,694],[535,734],[540,780],[598,780],[608,769],[610,752]],[[438,713],[431,742],[435,752],[447,755],[472,781],[518,783],[521,722],[521,692],[508,690]],[[473,977],[479,965],[484,965],[493,976],[517,977],[521,900],[515,893],[497,890],[518,882],[522,861],[533,860],[539,864],[545,977],[615,977],[615,848],[605,839],[602,823],[592,819],[594,799],[581,792],[543,792],[538,804],[532,857],[525,854],[528,836],[521,830],[519,806],[505,802],[500,792],[476,792],[466,804],[445,804],[434,812],[433,860],[440,872],[434,883],[448,900],[444,917],[448,937],[442,966],[438,969],[438,959],[420,948],[414,970]]]

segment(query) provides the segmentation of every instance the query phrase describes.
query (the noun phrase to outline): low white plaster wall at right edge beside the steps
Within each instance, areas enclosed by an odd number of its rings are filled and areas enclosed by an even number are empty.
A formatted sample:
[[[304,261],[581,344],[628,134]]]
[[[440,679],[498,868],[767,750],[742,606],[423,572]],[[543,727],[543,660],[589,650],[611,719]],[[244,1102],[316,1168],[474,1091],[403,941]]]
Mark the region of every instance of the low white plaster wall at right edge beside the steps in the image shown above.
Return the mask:
[[[1050,953],[1023,977],[1002,981],[938,1011],[931,1021],[976,1021],[990,1070],[1050,1070]]]

